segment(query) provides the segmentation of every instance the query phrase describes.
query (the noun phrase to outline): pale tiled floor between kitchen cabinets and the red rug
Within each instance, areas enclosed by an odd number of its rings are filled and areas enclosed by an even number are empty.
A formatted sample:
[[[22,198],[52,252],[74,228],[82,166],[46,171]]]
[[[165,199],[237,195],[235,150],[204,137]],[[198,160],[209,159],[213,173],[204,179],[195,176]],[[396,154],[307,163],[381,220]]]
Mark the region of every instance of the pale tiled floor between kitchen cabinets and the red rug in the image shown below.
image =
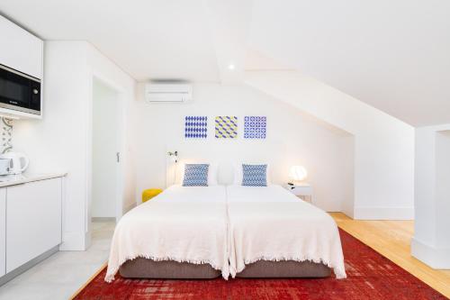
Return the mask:
[[[86,251],[59,251],[0,286],[0,300],[68,299],[108,259],[114,223],[93,223]]]

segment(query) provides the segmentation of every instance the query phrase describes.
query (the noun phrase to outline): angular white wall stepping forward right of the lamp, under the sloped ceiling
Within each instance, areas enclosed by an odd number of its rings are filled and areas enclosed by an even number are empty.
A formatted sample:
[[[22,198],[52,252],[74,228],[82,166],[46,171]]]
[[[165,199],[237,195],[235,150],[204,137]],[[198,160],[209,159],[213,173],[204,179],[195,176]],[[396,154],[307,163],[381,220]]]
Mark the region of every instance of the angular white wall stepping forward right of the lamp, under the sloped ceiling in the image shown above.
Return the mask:
[[[246,83],[355,135],[355,218],[413,218],[413,127],[300,72],[247,71]]]

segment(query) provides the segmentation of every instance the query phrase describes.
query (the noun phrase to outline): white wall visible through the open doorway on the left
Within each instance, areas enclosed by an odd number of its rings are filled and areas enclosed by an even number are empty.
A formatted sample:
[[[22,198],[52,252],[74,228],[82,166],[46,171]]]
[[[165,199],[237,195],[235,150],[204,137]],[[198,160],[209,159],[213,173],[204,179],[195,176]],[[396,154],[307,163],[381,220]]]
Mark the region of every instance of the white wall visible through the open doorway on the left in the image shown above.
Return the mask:
[[[92,216],[115,218],[119,95],[100,80],[93,83]]]

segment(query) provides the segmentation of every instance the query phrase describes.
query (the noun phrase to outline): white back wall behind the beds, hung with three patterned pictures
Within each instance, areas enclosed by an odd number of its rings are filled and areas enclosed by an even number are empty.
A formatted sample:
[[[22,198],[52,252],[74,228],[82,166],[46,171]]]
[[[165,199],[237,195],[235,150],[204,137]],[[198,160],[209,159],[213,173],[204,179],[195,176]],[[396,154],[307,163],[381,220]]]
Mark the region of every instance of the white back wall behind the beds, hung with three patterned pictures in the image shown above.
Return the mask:
[[[142,86],[138,93],[143,95]],[[301,164],[309,171],[316,205],[340,211],[344,201],[351,201],[353,138],[251,87],[196,84],[192,103],[148,105],[140,98],[137,111],[138,193],[148,187],[166,186],[166,151],[178,150],[182,163],[216,161],[221,168],[228,168],[222,174],[229,174],[231,163],[241,159],[269,162],[276,184],[286,183],[289,168]],[[184,139],[186,115],[208,116],[207,139]],[[238,140],[217,140],[213,135],[213,118],[217,115],[238,116],[240,135],[245,115],[266,115],[267,138],[252,141],[239,136]],[[220,180],[229,183],[226,175]]]

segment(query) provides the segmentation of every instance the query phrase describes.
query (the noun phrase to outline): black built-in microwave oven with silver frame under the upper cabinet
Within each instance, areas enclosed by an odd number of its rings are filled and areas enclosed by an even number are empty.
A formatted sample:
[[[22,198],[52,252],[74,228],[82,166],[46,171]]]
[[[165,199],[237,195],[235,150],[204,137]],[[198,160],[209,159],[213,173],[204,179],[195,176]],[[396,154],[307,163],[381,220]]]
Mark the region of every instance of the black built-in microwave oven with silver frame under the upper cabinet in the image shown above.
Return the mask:
[[[0,107],[40,115],[40,79],[0,64]]]

